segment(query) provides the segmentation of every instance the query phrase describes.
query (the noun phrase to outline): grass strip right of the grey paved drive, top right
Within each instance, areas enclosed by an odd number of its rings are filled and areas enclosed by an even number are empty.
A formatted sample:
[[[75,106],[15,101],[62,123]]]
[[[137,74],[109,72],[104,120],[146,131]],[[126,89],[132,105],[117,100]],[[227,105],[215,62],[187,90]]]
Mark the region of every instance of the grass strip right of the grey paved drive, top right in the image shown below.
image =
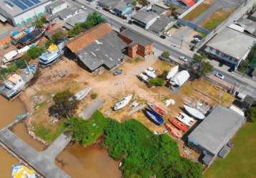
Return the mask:
[[[215,13],[213,13],[202,23],[202,28],[212,31],[216,26],[222,23],[222,21],[225,21],[225,19],[230,16],[232,11],[234,11],[234,9],[230,11],[224,11],[223,9],[215,11]]]

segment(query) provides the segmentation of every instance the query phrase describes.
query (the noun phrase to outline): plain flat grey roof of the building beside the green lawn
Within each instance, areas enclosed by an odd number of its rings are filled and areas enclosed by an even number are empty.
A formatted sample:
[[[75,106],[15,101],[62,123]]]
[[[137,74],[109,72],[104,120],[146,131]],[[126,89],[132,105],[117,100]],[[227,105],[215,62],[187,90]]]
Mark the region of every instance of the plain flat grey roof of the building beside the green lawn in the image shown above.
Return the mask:
[[[245,121],[245,117],[239,115],[237,112],[217,106],[188,135],[188,141],[194,145],[199,145],[213,155],[218,152],[229,142],[239,130]]]

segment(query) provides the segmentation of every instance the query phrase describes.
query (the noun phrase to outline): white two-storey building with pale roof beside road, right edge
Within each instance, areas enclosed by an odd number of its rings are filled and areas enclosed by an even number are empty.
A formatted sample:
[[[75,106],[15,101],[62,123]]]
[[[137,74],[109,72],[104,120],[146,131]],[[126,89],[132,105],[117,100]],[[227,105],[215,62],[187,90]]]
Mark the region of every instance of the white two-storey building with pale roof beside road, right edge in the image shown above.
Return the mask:
[[[206,44],[205,51],[236,69],[247,58],[255,41],[252,36],[227,27]]]

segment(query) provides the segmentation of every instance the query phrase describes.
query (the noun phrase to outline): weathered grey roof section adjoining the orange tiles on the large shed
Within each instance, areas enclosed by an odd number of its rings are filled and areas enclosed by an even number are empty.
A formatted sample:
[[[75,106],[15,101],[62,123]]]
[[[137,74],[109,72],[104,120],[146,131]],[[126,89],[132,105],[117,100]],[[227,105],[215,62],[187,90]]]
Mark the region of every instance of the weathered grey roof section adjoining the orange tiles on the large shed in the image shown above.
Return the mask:
[[[91,71],[103,65],[111,69],[124,58],[122,50],[125,46],[126,43],[117,36],[117,33],[111,31],[79,51],[77,55]]]

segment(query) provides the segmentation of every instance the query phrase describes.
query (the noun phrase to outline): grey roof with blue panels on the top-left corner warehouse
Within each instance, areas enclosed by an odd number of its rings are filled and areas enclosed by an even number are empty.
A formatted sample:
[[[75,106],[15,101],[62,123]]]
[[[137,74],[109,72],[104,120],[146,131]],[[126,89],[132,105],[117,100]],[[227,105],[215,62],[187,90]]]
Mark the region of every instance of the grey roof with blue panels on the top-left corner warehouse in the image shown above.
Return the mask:
[[[17,4],[14,4],[15,0],[0,0],[0,14],[5,17],[6,17],[6,14],[9,14],[9,16],[15,17],[26,11],[34,9],[37,6],[41,6],[41,4],[45,4],[46,2],[49,2],[49,1],[51,0],[39,0],[39,1],[36,1],[36,3],[34,1],[29,1],[30,2],[29,4],[31,6],[24,4],[23,1],[19,1],[18,4],[21,4],[21,5],[18,6]]]

